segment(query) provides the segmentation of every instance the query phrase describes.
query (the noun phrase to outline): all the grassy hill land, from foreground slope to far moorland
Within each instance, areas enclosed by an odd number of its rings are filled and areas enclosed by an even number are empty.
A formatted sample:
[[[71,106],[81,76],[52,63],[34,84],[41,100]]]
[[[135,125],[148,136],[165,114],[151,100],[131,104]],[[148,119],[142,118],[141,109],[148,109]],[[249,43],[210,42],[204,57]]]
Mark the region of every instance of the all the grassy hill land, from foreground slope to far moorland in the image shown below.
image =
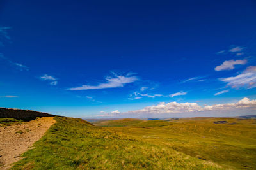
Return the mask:
[[[12,169],[256,169],[256,119],[54,120]]]

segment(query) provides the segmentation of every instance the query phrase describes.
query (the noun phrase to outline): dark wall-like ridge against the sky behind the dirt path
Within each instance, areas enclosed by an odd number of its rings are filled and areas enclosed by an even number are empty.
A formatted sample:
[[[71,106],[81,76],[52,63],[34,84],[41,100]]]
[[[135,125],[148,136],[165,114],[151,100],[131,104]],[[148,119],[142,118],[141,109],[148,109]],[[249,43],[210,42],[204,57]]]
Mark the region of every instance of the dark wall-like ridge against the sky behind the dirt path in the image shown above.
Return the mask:
[[[30,121],[35,120],[37,117],[55,117],[49,113],[42,113],[32,110],[20,110],[12,108],[0,108],[0,118],[15,118],[17,120]],[[63,117],[63,116],[60,116]]]

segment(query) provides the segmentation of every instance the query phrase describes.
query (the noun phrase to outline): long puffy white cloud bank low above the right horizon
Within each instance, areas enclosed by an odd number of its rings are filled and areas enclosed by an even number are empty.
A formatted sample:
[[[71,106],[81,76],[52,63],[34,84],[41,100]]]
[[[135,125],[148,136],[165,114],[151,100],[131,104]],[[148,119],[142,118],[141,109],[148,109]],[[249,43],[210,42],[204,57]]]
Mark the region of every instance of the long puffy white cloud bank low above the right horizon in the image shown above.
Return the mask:
[[[197,103],[159,103],[156,106],[147,106],[141,110],[128,111],[127,113],[190,113],[201,111],[217,111],[217,110],[232,110],[236,108],[253,108],[256,109],[256,100],[250,100],[246,97],[238,101],[237,103],[227,104],[214,104],[212,106],[206,105],[204,107],[199,106]]]

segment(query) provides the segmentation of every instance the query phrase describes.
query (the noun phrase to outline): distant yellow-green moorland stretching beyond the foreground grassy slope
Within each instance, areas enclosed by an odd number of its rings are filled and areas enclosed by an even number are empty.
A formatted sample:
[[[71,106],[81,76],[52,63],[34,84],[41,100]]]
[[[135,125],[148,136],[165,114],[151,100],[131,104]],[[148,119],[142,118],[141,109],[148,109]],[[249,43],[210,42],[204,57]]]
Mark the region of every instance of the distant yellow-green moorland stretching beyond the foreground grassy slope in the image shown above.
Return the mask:
[[[255,119],[155,120],[111,129],[198,159],[211,160],[225,168],[256,169]]]

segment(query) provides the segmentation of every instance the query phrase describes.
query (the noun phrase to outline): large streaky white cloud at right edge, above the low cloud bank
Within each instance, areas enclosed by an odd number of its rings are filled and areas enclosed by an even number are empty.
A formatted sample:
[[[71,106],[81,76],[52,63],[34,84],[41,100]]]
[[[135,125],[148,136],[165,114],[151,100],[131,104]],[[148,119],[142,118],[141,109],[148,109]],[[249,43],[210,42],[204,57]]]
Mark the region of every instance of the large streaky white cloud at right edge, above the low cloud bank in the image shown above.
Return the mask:
[[[245,71],[234,77],[220,78],[232,88],[245,87],[251,89],[256,87],[256,66],[247,67]]]

